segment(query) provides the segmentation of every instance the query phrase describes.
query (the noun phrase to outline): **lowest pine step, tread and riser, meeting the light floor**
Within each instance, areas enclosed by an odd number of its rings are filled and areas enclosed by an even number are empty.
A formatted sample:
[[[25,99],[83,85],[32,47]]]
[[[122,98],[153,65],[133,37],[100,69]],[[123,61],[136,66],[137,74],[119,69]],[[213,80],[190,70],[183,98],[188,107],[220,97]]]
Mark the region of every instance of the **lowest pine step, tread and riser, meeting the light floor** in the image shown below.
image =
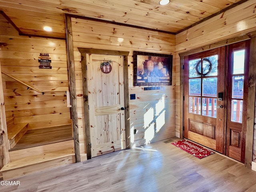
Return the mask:
[[[75,163],[74,147],[11,160],[0,170],[4,180]]]

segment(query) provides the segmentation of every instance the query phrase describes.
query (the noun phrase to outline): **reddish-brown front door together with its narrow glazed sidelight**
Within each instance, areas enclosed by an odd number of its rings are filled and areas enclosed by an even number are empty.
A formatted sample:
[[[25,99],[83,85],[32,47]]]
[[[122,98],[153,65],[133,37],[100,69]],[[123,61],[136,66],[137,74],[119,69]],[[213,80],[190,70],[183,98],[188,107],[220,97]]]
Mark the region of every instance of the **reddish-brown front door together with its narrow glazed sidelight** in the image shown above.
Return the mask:
[[[249,40],[184,57],[184,138],[245,161]]]

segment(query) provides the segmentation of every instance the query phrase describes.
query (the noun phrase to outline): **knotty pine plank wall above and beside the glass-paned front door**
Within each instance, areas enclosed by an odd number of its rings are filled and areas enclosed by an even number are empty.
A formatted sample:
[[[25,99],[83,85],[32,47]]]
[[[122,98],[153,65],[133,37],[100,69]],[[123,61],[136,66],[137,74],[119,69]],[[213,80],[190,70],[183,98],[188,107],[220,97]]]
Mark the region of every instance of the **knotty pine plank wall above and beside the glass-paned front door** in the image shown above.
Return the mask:
[[[235,38],[256,30],[255,0],[248,0],[218,16],[210,18],[188,30],[176,35],[176,126],[178,127],[180,114],[180,59],[178,53],[197,50],[198,52],[213,48],[209,45]],[[228,44],[228,42],[226,42]],[[222,44],[222,45],[225,45]],[[221,46],[221,44],[220,44]],[[256,115],[255,115],[256,118]],[[254,120],[255,121],[255,120]],[[254,135],[256,126],[254,126]],[[254,136],[253,161],[256,162],[256,137]]]

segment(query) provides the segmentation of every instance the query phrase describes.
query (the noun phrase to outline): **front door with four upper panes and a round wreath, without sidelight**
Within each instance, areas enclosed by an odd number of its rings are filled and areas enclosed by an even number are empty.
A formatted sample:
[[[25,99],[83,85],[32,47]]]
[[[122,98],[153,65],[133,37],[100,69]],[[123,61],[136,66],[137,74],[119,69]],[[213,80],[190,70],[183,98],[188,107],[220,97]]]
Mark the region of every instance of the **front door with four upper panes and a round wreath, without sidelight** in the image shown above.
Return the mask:
[[[224,152],[225,48],[184,57],[184,138]],[[222,95],[221,95],[222,94]]]

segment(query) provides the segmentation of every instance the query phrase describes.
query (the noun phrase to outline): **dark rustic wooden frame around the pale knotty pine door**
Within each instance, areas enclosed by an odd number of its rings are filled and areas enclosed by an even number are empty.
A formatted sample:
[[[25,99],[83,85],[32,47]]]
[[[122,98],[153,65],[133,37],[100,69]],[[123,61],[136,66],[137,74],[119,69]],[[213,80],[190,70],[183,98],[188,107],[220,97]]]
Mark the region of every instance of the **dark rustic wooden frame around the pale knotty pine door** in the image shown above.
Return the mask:
[[[128,55],[127,51],[104,50],[94,48],[78,48],[81,53],[82,63],[82,85],[84,95],[84,124],[86,133],[86,153],[87,159],[92,158],[91,153],[91,139],[90,139],[90,121],[88,109],[88,86],[87,86],[87,72],[86,72],[86,54],[102,54],[102,55],[116,55],[124,57],[124,117],[125,117],[125,132],[126,132],[126,148],[130,148],[130,113],[129,113],[129,84],[128,84]]]

